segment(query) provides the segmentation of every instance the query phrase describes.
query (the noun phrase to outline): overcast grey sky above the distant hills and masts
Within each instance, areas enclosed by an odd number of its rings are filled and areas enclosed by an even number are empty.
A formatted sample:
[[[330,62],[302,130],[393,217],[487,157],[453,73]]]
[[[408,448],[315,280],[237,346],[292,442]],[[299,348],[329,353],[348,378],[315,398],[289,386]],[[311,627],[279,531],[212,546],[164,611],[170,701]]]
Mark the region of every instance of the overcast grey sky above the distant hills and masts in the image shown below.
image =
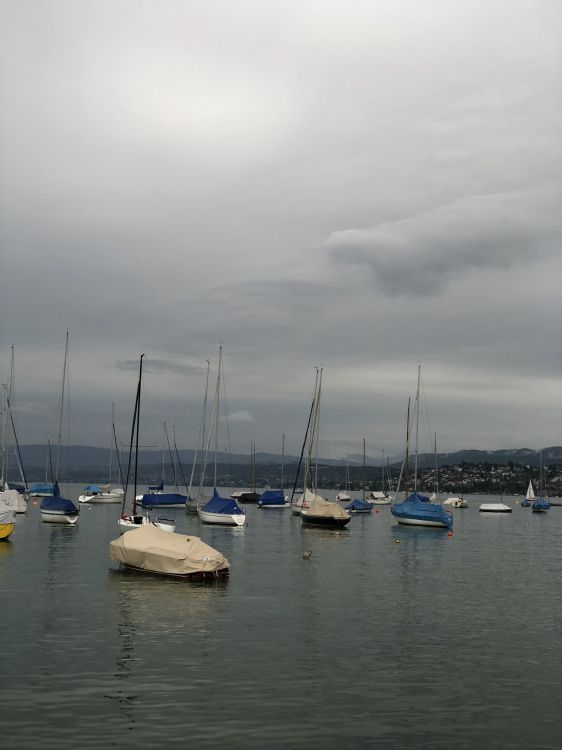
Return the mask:
[[[298,454],[562,444],[557,0],[0,0],[0,379]],[[12,349],[13,347],[13,349]],[[226,408],[225,408],[226,404]],[[225,417],[228,414],[228,419]],[[227,437],[226,428],[228,427]],[[431,446],[429,445],[431,442]]]

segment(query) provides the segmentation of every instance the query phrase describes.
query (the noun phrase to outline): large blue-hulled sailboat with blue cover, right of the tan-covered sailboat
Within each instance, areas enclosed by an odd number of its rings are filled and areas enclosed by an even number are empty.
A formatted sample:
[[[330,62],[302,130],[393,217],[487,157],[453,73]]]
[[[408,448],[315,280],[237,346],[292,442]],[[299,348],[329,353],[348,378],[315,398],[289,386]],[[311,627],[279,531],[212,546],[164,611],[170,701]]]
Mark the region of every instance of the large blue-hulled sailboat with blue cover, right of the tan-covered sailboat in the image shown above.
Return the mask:
[[[402,502],[393,503],[390,512],[396,518],[399,524],[404,526],[429,526],[442,529],[451,529],[453,526],[453,516],[443,508],[439,503],[432,503],[429,497],[418,492],[418,435],[419,435],[419,414],[420,414],[420,377],[421,365],[418,365],[418,385],[416,392],[416,443],[415,443],[415,463],[414,463],[414,491],[408,495]],[[406,420],[406,451],[404,458],[404,469],[408,470],[408,445],[410,435],[410,409],[408,404],[408,416]]]

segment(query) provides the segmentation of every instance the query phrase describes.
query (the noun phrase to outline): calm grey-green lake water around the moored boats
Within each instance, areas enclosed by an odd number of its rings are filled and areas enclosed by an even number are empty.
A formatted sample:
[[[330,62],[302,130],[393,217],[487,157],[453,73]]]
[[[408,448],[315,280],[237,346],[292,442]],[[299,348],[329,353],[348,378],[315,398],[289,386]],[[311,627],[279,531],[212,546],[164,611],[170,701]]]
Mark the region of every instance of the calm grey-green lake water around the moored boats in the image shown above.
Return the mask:
[[[163,511],[230,560],[210,585],[120,571],[118,505],[30,506],[0,544],[2,747],[558,750],[562,507],[468,500],[452,536]]]

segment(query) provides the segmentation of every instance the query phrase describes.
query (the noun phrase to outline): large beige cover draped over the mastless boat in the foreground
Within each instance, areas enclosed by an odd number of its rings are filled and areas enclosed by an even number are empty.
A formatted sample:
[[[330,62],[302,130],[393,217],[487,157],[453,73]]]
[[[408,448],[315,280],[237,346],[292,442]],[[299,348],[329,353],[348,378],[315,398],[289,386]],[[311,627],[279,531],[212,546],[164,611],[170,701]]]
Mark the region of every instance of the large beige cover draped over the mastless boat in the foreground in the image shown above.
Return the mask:
[[[213,573],[230,563],[198,536],[162,531],[151,523],[126,531],[109,544],[111,560],[153,573]]]

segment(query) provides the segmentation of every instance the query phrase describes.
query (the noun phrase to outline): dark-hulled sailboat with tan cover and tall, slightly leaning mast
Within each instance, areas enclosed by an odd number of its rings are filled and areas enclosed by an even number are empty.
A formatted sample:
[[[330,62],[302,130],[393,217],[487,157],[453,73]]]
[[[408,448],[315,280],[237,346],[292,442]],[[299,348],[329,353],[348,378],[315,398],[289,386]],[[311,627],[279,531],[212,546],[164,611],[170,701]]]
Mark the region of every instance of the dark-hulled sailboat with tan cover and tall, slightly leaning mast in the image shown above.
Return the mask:
[[[316,449],[316,455],[318,455],[322,372],[323,368],[317,370],[315,397],[313,399],[314,409],[312,430],[310,431],[308,441],[308,453],[304,473],[303,505],[301,507],[300,517],[302,523],[306,526],[322,526],[323,528],[340,529],[349,523],[351,520],[351,514],[342,508],[341,505],[332,503],[318,494],[317,473],[315,472],[313,474],[312,472],[312,453],[314,449]],[[308,489],[309,485],[312,485],[311,491]]]

